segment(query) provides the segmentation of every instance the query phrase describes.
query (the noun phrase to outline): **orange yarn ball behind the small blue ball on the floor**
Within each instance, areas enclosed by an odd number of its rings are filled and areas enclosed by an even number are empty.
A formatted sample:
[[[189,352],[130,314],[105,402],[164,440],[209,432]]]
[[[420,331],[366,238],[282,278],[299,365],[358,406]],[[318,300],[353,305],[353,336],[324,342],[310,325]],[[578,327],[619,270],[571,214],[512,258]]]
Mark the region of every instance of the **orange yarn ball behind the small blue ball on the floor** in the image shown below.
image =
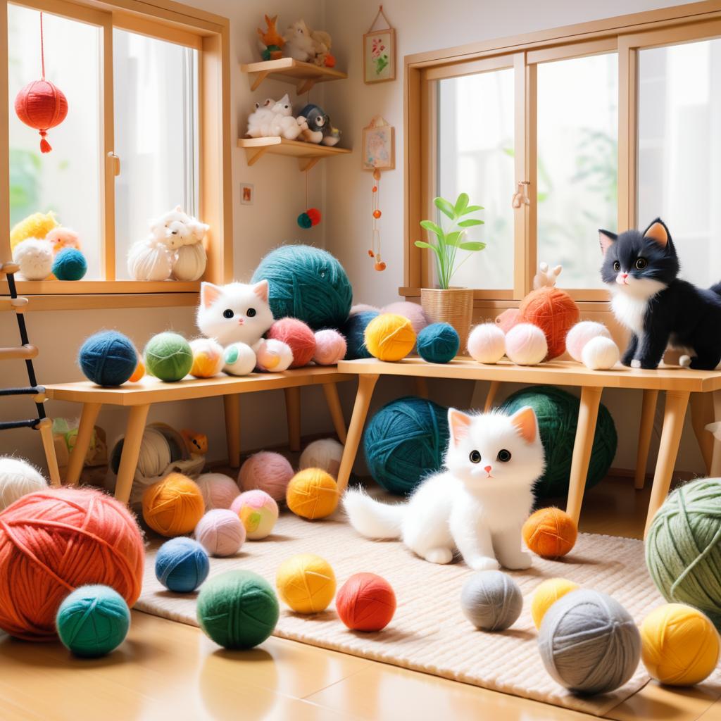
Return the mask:
[[[143,519],[161,536],[190,534],[203,517],[203,494],[182,473],[170,473],[143,493]]]

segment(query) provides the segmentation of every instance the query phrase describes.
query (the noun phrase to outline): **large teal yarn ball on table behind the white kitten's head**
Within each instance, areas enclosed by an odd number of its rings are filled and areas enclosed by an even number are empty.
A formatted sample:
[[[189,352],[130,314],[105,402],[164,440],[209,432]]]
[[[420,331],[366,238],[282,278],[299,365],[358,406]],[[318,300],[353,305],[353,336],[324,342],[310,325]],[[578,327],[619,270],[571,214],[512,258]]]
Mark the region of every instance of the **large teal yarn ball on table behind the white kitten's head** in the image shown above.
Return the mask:
[[[273,317],[291,316],[312,329],[339,328],[348,320],[353,288],[329,252],[310,245],[283,245],[266,255],[253,283],[270,284]]]

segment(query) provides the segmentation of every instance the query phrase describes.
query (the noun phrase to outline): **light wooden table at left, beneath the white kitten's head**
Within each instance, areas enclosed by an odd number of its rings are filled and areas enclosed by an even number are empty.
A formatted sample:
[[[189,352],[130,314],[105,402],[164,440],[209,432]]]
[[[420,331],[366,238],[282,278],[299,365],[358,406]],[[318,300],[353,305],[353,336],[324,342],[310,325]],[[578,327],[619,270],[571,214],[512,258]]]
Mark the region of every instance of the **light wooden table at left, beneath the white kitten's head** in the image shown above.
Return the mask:
[[[103,388],[89,381],[61,383],[45,386],[48,398],[82,404],[78,435],[70,454],[66,483],[76,485],[80,479],[85,454],[92,438],[92,430],[103,405],[128,407],[128,424],[125,430],[123,453],[120,457],[115,497],[128,502],[133,487],[146,419],[154,403],[186,401],[195,398],[223,397],[226,441],[229,463],[240,465],[240,397],[244,393],[283,389],[286,394],[288,439],[291,450],[299,451],[301,444],[301,402],[303,386],[322,386],[332,417],[335,432],[345,443],[345,420],[336,387],[340,381],[353,376],[340,373],[335,367],[298,368],[283,373],[251,373],[249,376],[216,376],[208,379],[187,378],[178,383],[164,383],[146,376],[139,383],[128,383],[118,388]]]

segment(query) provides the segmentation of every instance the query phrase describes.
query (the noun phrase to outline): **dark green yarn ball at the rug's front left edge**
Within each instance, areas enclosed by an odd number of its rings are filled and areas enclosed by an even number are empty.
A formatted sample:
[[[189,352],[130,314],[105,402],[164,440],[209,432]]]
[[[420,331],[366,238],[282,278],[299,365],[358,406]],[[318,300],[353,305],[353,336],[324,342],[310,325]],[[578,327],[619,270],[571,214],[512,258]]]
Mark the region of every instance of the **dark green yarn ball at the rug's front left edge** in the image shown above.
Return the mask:
[[[198,623],[219,646],[247,649],[262,643],[278,623],[278,597],[252,571],[227,571],[211,578],[198,595]]]

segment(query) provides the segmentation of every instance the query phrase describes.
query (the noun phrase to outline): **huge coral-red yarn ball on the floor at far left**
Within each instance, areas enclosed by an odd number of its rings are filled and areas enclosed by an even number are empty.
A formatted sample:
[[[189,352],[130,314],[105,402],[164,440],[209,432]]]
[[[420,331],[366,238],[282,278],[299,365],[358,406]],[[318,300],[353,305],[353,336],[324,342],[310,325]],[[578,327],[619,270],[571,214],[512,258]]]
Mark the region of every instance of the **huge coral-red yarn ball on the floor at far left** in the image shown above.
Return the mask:
[[[24,495],[0,524],[0,629],[53,639],[61,601],[89,583],[115,588],[133,606],[144,560],[138,524],[115,498],[72,487]]]

